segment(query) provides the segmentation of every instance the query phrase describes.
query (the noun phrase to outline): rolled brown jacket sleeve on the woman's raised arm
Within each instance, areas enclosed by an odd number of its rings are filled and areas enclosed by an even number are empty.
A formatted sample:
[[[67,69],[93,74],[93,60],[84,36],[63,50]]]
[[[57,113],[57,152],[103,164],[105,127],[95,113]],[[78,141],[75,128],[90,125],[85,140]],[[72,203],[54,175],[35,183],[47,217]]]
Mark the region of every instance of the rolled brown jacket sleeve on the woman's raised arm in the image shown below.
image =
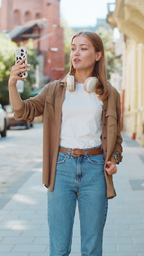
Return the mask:
[[[46,97],[46,85],[35,97],[30,97],[25,101],[22,101],[22,107],[18,110],[14,110],[14,119],[15,120],[27,120],[29,123],[32,123],[35,117],[39,117],[44,113],[45,106],[45,97]]]

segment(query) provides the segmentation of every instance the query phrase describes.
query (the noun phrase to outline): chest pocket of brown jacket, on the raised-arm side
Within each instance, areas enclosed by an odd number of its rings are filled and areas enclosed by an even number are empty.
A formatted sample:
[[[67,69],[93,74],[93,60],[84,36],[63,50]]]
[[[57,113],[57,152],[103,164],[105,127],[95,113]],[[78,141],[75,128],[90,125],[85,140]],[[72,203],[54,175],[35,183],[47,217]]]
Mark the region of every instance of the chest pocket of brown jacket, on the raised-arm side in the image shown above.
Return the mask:
[[[50,121],[55,120],[55,98],[52,95],[46,95],[45,116]]]

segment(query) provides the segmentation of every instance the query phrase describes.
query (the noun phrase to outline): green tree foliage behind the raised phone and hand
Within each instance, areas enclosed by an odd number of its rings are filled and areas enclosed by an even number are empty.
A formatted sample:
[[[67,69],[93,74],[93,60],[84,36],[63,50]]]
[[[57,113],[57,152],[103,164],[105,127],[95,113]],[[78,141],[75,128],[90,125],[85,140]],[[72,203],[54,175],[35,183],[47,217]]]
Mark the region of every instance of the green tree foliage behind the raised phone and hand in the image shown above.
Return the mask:
[[[0,102],[2,105],[9,103],[8,80],[11,67],[15,65],[15,50],[17,47],[17,44],[9,39],[8,34],[0,34]],[[21,94],[22,100],[28,98],[29,92],[32,91],[32,84],[35,83],[34,69],[38,64],[37,54],[33,50],[32,39],[29,39],[27,49],[28,63],[31,64],[31,71],[28,73],[24,91]]]

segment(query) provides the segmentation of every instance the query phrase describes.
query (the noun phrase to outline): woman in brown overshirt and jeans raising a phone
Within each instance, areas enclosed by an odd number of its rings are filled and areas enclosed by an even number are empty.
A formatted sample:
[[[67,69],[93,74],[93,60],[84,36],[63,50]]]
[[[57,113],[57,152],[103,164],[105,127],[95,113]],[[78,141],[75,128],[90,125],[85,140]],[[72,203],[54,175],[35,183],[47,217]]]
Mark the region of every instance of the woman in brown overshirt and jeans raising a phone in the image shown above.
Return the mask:
[[[70,72],[22,101],[17,63],[9,78],[15,119],[31,123],[44,113],[43,183],[48,194],[50,255],[69,255],[76,202],[81,254],[102,255],[108,199],[116,196],[112,175],[122,161],[121,99],[106,80],[103,42],[80,31],[71,41]]]

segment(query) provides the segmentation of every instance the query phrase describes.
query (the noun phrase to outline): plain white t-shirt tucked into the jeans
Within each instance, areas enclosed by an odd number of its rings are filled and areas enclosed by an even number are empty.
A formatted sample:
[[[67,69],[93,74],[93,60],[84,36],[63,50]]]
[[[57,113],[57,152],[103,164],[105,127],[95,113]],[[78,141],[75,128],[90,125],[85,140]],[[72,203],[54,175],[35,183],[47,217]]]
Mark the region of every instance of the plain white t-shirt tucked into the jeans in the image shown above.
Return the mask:
[[[95,92],[87,92],[75,83],[75,91],[66,90],[62,106],[59,145],[66,148],[93,148],[101,145],[103,101]]]

